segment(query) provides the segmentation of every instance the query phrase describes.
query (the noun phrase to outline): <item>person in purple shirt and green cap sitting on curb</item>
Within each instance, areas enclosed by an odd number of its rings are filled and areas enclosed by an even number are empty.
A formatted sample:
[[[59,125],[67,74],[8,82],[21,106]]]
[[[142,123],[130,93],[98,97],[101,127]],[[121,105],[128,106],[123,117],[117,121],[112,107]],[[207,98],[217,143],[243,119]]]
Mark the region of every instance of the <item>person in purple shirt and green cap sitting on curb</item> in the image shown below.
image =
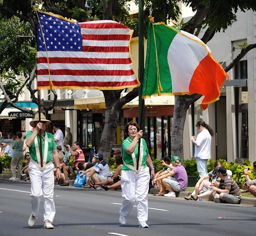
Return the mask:
[[[163,185],[169,190],[164,196],[176,197],[175,191],[184,191],[187,187],[187,173],[178,156],[172,157],[171,164],[174,165],[174,168],[170,172],[155,178],[152,182],[156,183],[162,179]]]

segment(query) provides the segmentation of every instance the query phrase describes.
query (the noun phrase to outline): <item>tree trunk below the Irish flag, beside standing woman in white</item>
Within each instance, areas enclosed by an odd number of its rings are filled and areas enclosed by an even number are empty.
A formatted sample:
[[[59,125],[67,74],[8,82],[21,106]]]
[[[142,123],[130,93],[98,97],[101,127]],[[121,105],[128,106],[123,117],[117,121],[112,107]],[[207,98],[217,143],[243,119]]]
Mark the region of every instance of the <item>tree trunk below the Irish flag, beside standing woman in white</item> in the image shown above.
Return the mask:
[[[183,129],[186,118],[186,111],[189,105],[198,100],[201,96],[201,94],[197,93],[192,95],[175,95],[175,105],[171,129],[171,155],[179,156],[181,159],[181,164],[184,164]]]

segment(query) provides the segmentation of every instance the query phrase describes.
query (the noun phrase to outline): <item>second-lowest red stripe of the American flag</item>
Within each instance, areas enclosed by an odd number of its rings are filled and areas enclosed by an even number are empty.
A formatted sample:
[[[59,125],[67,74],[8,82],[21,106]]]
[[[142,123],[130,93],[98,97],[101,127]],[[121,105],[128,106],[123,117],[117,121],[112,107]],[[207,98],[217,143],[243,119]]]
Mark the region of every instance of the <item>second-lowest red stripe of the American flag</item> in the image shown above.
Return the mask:
[[[39,69],[37,70],[37,75],[46,75],[49,74],[48,69]],[[51,75],[75,75],[75,76],[89,76],[89,75],[95,75],[95,76],[122,76],[122,75],[132,75],[134,74],[132,69],[129,70],[71,70],[71,69],[50,69]]]

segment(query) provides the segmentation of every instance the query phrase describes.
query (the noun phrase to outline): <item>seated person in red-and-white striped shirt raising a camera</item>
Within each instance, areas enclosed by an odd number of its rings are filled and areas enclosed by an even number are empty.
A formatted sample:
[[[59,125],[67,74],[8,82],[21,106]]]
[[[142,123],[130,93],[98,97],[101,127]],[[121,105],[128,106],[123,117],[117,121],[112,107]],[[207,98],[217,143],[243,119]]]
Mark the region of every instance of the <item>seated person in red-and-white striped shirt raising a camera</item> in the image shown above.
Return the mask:
[[[73,166],[67,165],[67,166],[63,167],[65,181],[62,184],[60,184],[60,186],[68,186],[69,185],[68,174],[70,174],[72,172],[75,175],[77,175],[79,172],[79,168],[77,166],[78,163],[80,163],[80,162],[84,163],[84,154],[83,154],[83,151],[80,146],[81,146],[81,143],[79,141],[74,142],[73,150],[70,148],[69,144],[65,145],[66,150],[67,151],[69,150],[71,155],[74,157],[74,162],[73,162]]]

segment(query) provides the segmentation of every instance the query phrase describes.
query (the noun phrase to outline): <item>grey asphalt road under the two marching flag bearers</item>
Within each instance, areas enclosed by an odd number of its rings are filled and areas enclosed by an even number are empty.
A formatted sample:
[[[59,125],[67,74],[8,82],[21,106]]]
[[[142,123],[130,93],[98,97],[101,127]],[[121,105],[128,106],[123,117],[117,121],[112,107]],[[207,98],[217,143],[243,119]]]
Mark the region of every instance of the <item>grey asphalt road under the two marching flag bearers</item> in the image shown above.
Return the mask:
[[[43,200],[35,225],[29,228],[30,184],[0,180],[0,235],[255,235],[256,207],[187,201],[148,194],[149,228],[138,228],[136,206],[119,224],[121,192],[54,187],[54,229],[43,229]],[[225,218],[219,218],[225,217]]]

